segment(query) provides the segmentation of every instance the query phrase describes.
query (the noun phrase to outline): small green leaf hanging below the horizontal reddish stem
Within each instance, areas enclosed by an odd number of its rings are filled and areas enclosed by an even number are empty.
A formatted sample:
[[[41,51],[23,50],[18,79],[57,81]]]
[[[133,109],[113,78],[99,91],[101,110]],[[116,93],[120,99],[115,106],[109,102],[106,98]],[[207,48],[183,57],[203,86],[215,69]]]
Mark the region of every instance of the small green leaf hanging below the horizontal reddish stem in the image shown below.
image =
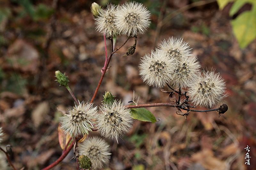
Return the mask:
[[[132,118],[143,122],[156,122],[156,117],[145,108],[137,108],[132,110]]]

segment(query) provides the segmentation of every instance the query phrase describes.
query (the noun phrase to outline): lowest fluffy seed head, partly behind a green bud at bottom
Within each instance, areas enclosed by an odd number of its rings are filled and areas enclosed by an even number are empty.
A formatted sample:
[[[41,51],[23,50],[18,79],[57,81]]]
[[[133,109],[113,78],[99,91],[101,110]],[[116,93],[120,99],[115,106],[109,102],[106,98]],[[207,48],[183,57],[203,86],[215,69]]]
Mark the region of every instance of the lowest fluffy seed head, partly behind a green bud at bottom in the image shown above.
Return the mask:
[[[87,138],[79,143],[78,153],[90,158],[92,169],[102,168],[104,164],[108,164],[111,155],[108,143],[99,137]]]

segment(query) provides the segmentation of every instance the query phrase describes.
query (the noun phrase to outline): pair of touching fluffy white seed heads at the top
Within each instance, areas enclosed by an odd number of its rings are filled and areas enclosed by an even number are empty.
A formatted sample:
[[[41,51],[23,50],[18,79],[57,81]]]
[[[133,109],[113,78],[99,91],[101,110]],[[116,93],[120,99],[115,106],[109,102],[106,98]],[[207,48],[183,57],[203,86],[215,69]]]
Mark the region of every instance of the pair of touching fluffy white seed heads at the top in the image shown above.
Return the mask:
[[[150,13],[143,4],[137,2],[126,2],[122,6],[108,4],[95,21],[97,30],[108,38],[120,33],[133,37],[148,29]]]

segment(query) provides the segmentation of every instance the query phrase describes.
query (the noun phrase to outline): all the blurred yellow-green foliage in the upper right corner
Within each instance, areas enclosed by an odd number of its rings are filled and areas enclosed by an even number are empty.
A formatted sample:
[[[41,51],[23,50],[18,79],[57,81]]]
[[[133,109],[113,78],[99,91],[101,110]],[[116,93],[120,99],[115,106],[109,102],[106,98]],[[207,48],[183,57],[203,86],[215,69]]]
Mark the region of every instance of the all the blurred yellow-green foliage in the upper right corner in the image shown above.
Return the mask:
[[[250,11],[244,11],[231,21],[234,35],[241,48],[248,46],[256,38],[256,0],[217,0],[219,9],[233,2],[229,15],[235,15],[245,4],[251,4]]]

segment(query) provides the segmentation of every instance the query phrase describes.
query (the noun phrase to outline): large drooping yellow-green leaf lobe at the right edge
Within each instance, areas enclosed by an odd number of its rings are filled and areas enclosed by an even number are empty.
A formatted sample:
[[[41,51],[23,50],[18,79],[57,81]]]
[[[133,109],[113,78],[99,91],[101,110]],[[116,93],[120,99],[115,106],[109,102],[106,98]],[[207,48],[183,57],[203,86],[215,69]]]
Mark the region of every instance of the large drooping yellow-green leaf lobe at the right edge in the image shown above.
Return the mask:
[[[233,32],[239,46],[245,48],[256,38],[256,8],[245,11],[231,21]]]

